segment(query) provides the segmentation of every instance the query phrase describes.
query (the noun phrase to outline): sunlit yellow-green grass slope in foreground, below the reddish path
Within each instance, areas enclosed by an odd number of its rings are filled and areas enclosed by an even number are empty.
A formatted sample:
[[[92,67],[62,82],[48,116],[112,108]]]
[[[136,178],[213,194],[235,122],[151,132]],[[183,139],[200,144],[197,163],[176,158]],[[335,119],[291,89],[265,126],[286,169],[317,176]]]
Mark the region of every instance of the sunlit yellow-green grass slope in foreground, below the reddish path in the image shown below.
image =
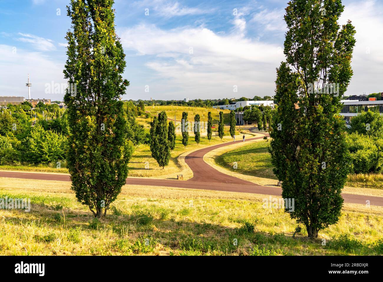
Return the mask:
[[[304,228],[292,238],[295,220],[263,195],[125,185],[101,220],[69,182],[1,178],[5,195],[31,198],[31,211],[0,210],[0,255],[383,254],[381,207],[345,204],[311,240]]]

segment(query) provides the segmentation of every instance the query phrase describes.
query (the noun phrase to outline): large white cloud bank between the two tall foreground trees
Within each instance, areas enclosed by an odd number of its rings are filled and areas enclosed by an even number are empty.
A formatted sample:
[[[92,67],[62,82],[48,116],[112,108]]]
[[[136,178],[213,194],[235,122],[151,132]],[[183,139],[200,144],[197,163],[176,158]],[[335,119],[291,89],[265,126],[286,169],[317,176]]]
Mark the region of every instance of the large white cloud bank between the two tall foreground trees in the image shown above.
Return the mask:
[[[118,34],[125,51],[147,58],[145,65],[156,74],[146,80],[151,91],[171,93],[169,99],[272,96],[275,68],[284,58],[278,46],[237,32],[220,35],[204,27],[162,30],[141,24]],[[233,92],[234,85],[238,92]],[[139,89],[129,89],[135,90]]]

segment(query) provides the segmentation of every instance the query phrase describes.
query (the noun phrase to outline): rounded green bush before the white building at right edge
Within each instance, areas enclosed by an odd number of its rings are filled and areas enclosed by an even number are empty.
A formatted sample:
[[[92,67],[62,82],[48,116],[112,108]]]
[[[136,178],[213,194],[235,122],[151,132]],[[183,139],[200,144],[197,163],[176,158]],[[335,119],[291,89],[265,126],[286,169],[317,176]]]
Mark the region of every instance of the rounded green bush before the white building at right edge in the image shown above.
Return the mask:
[[[379,112],[362,112],[351,119],[350,126],[351,133],[383,138],[383,116]]]

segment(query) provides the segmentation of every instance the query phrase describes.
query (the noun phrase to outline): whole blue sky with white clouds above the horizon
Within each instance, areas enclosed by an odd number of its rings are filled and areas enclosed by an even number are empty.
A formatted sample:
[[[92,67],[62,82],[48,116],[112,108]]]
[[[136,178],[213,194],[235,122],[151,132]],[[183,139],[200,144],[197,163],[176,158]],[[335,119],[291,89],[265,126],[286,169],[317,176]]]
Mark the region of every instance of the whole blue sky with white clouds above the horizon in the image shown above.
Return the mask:
[[[29,73],[33,98],[62,99],[68,2],[0,0],[0,96],[26,97]],[[273,96],[287,2],[116,0],[131,82],[123,99]],[[382,2],[343,1],[340,23],[350,19],[357,30],[347,95],[383,91]]]

